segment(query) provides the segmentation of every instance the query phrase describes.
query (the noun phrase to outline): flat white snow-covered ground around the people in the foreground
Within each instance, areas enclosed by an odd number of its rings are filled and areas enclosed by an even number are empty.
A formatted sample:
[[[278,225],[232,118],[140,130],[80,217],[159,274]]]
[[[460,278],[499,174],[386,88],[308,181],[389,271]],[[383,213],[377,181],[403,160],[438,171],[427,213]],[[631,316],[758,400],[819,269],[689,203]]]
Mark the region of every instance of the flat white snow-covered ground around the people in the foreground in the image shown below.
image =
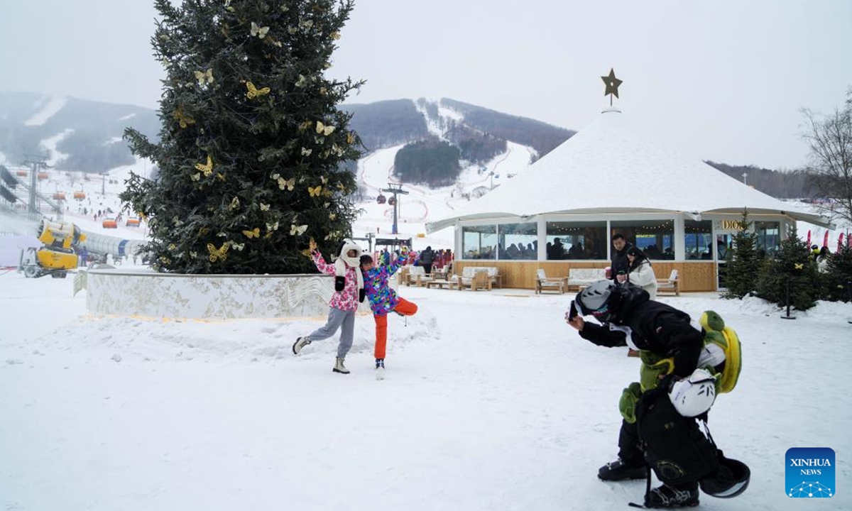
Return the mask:
[[[618,399],[637,359],[568,329],[570,296],[403,288],[388,377],[373,322],[356,319],[352,374],[337,337],[299,357],[315,320],[95,318],[71,279],[0,275],[0,508],[610,510],[644,483],[603,483]],[[741,496],[704,509],[799,509],[785,452],[831,447],[852,508],[852,307],[795,321],[765,302],[665,298],[739,331],[744,370],[711,412],[715,439],[751,467]],[[844,376],[847,375],[847,376]]]

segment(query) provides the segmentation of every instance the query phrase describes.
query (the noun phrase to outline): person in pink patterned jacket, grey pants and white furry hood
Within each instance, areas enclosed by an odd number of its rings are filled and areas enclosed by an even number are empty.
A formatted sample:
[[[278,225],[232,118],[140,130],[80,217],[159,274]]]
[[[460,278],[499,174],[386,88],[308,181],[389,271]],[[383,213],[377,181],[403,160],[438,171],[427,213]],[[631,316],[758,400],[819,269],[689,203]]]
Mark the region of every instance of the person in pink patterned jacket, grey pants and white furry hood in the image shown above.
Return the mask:
[[[357,244],[347,242],[343,244],[340,255],[334,264],[328,264],[317,250],[314,239],[310,241],[311,258],[321,273],[334,275],[334,296],[329,302],[328,321],[320,329],[315,330],[307,336],[299,337],[293,343],[293,354],[297,355],[303,347],[311,342],[322,341],[337,333],[340,329],[340,343],[337,345],[337,360],[334,364],[334,372],[349,374],[349,370],[343,365],[346,354],[352,347],[352,339],[355,327],[355,311],[358,303],[364,301],[364,278],[358,271],[361,249]]]

